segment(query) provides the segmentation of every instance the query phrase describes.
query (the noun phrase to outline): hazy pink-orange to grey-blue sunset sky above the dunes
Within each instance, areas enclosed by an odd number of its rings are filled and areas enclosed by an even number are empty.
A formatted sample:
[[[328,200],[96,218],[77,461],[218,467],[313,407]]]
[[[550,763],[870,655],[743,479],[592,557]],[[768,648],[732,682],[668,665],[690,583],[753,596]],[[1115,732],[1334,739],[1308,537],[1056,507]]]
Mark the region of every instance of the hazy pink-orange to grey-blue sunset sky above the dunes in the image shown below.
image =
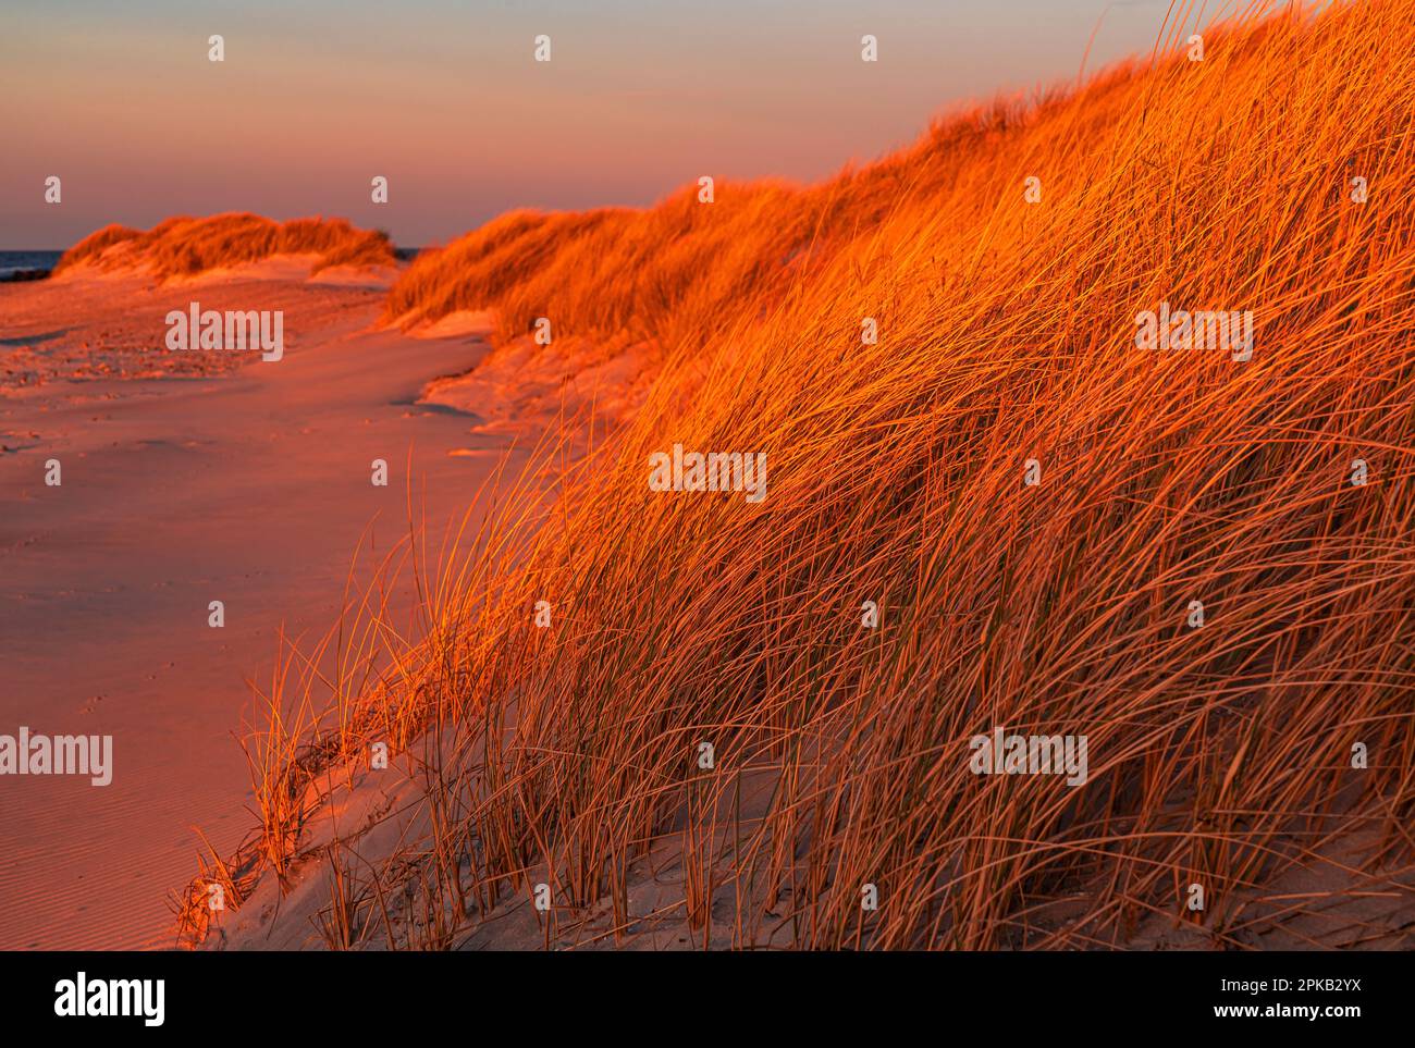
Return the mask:
[[[1148,55],[1169,6],[3,0],[0,249],[222,211],[423,246],[512,208],[648,205],[702,174],[811,182],[952,107],[1074,82],[1092,33],[1087,71]]]

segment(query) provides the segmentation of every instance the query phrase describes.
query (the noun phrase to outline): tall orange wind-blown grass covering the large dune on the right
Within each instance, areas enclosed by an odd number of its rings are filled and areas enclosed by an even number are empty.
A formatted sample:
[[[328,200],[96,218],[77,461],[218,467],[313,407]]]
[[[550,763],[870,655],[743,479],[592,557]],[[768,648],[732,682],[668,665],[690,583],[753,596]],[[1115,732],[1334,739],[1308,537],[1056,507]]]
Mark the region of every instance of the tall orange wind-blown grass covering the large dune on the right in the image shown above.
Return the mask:
[[[516,214],[409,269],[391,318],[631,331],[662,373],[553,503],[508,485],[420,570],[426,639],[371,644],[391,669],[340,675],[287,758],[436,735],[434,840],[379,874],[440,901],[402,942],[456,943],[533,867],[618,915],[669,839],[692,926],[733,885],[734,943],[805,948],[1118,943],[1150,914],[1242,945],[1248,892],[1333,833],[1409,860],[1415,3],[1271,7],[819,187]],[[1138,349],[1160,301],[1252,310],[1252,359]],[[649,491],[675,441],[766,451],[766,499]],[[995,726],[1087,735],[1090,781],[972,774]]]

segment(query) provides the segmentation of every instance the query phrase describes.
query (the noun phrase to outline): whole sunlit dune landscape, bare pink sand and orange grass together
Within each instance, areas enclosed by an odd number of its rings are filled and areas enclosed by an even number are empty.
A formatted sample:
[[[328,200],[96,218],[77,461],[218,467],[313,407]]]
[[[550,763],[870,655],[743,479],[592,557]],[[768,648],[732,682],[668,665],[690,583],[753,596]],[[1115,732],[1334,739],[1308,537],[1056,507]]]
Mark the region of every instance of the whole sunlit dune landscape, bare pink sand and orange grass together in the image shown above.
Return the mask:
[[[1408,945],[1415,3],[1264,11],[814,187],[0,289],[0,723],[117,744],[0,945]]]

